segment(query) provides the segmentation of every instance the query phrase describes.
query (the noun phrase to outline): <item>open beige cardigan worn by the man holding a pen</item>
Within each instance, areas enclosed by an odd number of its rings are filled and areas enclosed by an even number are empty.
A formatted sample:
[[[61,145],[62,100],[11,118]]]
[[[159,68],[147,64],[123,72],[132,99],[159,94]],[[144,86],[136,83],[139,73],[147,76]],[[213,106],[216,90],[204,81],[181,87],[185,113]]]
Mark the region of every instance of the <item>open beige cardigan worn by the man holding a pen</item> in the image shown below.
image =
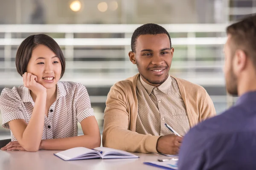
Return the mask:
[[[104,113],[102,144],[129,152],[157,153],[160,136],[136,132],[138,100],[136,95],[139,74],[113,85],[108,93]],[[172,76],[173,77],[173,76]],[[207,91],[184,79],[174,77],[186,105],[190,127],[215,116],[215,108]]]

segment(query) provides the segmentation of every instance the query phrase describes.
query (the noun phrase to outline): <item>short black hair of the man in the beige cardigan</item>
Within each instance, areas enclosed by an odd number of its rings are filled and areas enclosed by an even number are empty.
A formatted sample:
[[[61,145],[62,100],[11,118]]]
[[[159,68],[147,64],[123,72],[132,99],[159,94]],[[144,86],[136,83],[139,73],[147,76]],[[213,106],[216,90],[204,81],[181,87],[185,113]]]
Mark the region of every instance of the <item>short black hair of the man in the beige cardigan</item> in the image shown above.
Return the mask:
[[[171,37],[170,37],[168,31],[166,31],[166,29],[163,28],[162,26],[159,26],[154,23],[148,23],[148,24],[144,24],[143,26],[138,27],[132,34],[132,36],[131,36],[131,51],[132,52],[136,52],[135,49],[136,49],[137,38],[140,35],[146,35],[146,34],[151,34],[151,35],[166,34],[166,35],[168,35],[169,40],[170,40],[170,48],[172,48]]]

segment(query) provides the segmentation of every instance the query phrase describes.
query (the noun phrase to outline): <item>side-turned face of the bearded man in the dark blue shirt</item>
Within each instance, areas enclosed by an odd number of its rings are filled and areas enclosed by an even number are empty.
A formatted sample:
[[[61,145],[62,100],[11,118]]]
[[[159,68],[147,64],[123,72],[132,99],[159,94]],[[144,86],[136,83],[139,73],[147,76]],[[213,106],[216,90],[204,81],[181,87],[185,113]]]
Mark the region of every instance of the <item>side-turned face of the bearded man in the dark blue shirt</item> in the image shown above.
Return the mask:
[[[237,95],[237,77],[233,70],[233,59],[235,55],[235,49],[231,46],[231,35],[228,35],[227,42],[224,45],[224,54],[225,54],[225,65],[224,65],[224,74],[227,86],[227,92],[231,95]]]

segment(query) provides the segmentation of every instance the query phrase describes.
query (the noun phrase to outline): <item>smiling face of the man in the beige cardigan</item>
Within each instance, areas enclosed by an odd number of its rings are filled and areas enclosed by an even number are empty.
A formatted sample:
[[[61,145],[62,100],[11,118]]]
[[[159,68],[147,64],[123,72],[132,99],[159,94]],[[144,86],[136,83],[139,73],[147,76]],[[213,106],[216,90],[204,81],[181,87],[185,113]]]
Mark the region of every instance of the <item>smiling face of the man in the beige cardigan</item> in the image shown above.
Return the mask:
[[[174,49],[166,34],[146,34],[137,38],[136,52],[130,60],[137,65],[142,79],[149,85],[162,84],[169,75]]]

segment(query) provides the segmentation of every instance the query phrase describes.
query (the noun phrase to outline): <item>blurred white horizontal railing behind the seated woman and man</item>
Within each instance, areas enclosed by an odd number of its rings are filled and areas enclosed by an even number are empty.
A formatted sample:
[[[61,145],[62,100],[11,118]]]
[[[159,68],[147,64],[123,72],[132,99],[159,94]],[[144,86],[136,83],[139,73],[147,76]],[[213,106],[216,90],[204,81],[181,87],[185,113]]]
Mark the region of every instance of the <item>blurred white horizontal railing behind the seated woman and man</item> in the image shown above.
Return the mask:
[[[128,51],[131,50],[131,35],[139,26],[0,25],[0,86],[22,84],[15,69],[17,47],[29,34],[46,33],[61,46],[67,59],[63,81],[81,82],[90,88],[111,87],[138,72],[136,65],[129,60]],[[227,24],[161,26],[173,37],[172,74],[199,85],[224,87],[222,46],[226,41]],[[224,105],[231,101],[226,94],[211,97],[213,102]],[[90,96],[90,99],[92,104],[104,103],[106,96],[99,94]],[[96,111],[98,121],[103,119],[102,112],[102,109]]]

